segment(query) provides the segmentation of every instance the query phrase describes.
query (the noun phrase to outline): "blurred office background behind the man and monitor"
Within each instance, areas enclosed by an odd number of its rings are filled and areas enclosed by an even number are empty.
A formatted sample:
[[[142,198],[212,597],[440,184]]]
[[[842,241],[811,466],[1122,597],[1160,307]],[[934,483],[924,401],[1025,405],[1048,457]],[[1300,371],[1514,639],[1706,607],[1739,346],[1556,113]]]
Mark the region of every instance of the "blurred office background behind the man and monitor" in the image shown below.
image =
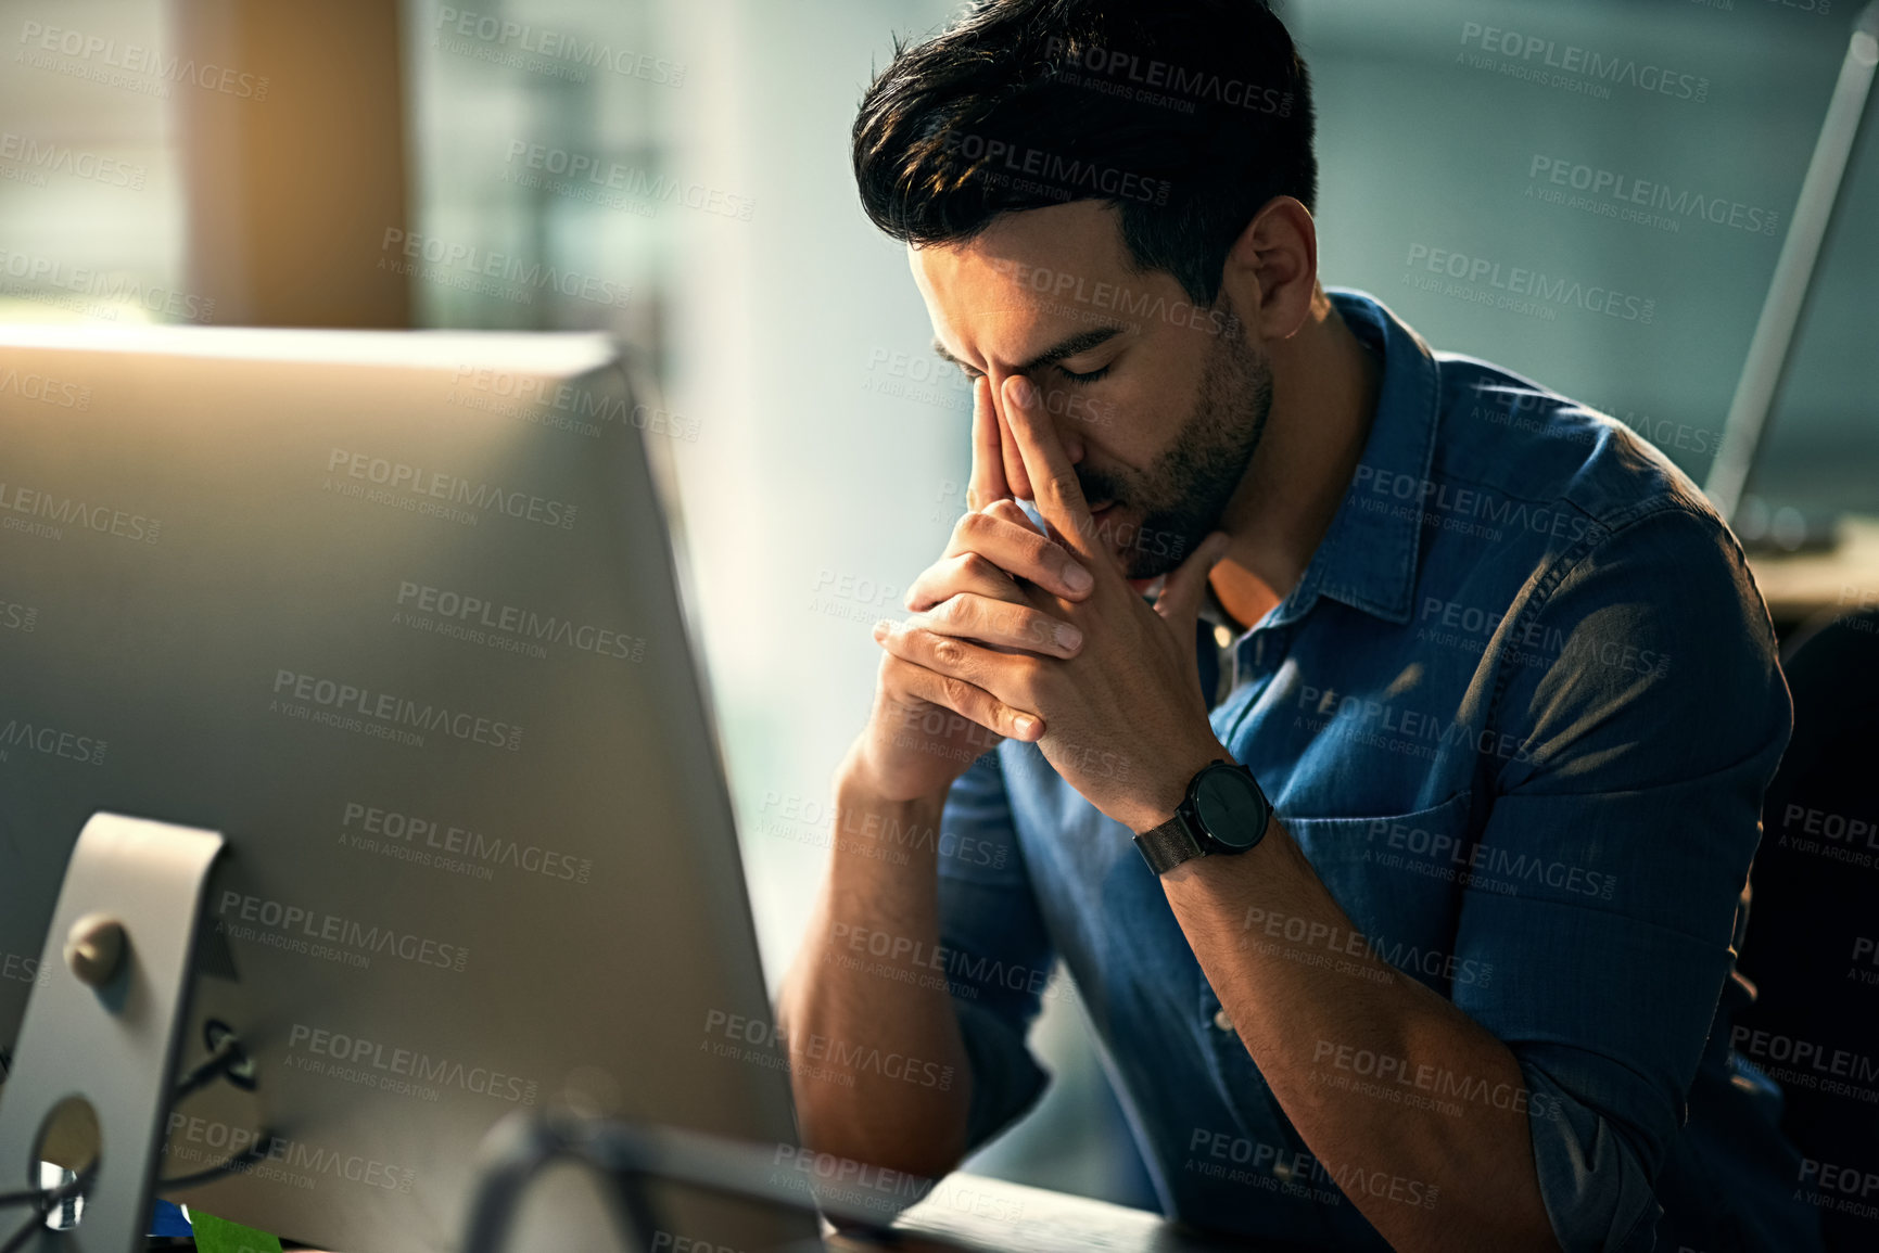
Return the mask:
[[[859,212],[846,145],[893,38],[955,8],[0,0],[0,317],[626,338],[682,483],[774,982],[825,859],[829,774],[868,708],[868,627],[964,507],[968,393],[930,353],[902,250]],[[1317,90],[1327,282],[1614,413],[1700,481],[1855,8],[1281,8]],[[1486,26],[1678,90],[1535,85]],[[1868,126],[1751,483],[1776,505],[1879,513],[1875,145]],[[582,177],[614,165],[613,188]],[[1561,203],[1576,167],[1685,209]],[[1498,310],[1473,299],[1488,282],[1432,274],[1437,250],[1616,289],[1640,316]],[[977,1165],[1152,1204],[1079,1014],[1047,999],[1052,1091]]]

